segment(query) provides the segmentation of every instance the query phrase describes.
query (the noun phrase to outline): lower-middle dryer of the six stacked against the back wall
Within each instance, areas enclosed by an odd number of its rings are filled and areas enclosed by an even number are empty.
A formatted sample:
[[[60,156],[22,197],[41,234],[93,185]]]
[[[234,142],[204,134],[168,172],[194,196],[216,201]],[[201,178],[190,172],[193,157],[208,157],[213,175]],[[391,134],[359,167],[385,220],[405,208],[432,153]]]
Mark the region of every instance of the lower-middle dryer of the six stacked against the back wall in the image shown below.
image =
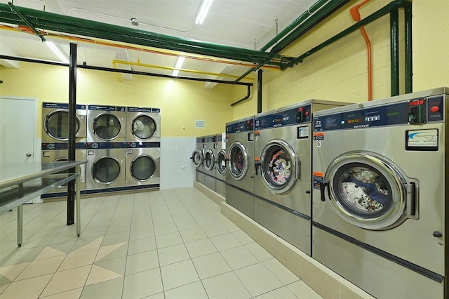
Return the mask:
[[[126,142],[87,142],[86,193],[125,190]]]

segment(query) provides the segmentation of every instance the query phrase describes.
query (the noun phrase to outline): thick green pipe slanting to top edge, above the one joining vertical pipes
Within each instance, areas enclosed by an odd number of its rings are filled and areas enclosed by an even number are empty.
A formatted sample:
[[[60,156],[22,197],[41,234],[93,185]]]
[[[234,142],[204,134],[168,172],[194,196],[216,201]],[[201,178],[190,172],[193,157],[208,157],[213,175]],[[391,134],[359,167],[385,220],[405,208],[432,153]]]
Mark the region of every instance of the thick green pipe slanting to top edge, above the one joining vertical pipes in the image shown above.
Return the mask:
[[[324,19],[326,19],[329,15],[335,13],[335,11],[339,10],[347,4],[349,0],[340,0],[340,1],[328,1],[328,5],[323,6],[323,8],[320,9],[320,11],[317,11],[313,15],[310,16],[310,18],[307,18],[307,20],[304,21],[299,27],[293,29],[284,39],[279,41],[276,46],[272,48],[272,53],[279,53],[283,49],[285,49],[287,46],[293,43],[293,41],[296,41],[301,36],[309,32],[310,29],[318,25],[320,22],[322,22]]]

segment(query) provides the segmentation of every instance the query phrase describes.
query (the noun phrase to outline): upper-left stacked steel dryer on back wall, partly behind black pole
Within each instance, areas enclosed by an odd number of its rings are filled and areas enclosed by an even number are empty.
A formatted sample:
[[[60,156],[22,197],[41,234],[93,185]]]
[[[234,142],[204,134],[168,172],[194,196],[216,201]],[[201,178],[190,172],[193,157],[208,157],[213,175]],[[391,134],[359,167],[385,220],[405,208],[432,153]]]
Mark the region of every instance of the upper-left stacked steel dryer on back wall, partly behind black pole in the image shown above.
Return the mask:
[[[86,105],[76,105],[76,142],[86,142]],[[42,142],[67,142],[69,140],[69,104],[42,103]]]

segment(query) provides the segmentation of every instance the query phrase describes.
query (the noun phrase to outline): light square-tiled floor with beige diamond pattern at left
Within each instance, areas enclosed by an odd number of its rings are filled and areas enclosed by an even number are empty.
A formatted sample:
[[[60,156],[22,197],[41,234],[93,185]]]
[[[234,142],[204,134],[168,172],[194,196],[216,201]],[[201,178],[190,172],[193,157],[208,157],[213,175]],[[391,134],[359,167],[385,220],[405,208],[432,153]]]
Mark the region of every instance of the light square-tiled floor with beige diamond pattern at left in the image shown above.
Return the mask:
[[[321,298],[194,187],[0,215],[0,298]]]

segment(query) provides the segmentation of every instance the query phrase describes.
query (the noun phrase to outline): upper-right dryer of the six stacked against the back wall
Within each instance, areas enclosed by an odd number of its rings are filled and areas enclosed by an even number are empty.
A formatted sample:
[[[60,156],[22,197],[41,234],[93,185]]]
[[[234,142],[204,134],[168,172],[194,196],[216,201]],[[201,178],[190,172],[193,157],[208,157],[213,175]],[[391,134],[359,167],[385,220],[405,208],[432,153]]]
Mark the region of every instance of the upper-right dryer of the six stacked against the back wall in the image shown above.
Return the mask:
[[[161,109],[126,107],[126,141],[160,142]]]

